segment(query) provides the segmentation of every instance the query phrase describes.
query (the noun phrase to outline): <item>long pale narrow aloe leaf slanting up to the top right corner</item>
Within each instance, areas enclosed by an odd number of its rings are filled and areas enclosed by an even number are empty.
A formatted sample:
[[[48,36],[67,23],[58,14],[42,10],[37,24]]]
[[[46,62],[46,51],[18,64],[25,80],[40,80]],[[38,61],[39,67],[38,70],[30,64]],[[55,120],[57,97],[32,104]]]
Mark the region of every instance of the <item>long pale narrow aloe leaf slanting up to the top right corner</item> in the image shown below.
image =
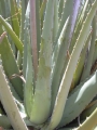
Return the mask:
[[[53,130],[54,128],[57,127],[57,125],[59,123],[59,121],[63,117],[65,104],[67,101],[67,95],[68,95],[69,89],[70,89],[73,73],[75,70],[77,62],[80,56],[81,50],[83,48],[84,41],[87,37],[87,32],[89,30],[89,25],[95,15],[95,12],[96,12],[96,6],[97,6],[97,1],[95,0],[85,22],[83,24],[82,30],[75,42],[75,46],[73,48],[72,54],[69,60],[69,63],[67,65],[64,77],[61,79],[59,91],[57,93],[57,98],[56,98],[56,102],[55,102],[55,106],[54,106],[54,110],[53,110],[50,126],[48,126],[48,128],[51,130]]]

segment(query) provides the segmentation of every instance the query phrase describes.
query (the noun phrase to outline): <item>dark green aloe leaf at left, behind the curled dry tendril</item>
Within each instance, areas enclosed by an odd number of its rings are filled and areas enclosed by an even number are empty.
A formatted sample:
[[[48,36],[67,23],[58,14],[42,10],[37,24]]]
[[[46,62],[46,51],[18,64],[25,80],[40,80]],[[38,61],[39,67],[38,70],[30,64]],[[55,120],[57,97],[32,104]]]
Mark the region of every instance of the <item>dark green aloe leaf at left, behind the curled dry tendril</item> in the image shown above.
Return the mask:
[[[2,32],[3,32],[2,27],[0,27],[0,34]],[[0,43],[0,54],[1,54],[2,65],[5,70],[5,74],[9,80],[11,81],[11,83],[13,84],[14,89],[23,100],[22,79],[19,79],[18,77],[11,79],[12,75],[14,74],[19,75],[19,69],[6,37]]]

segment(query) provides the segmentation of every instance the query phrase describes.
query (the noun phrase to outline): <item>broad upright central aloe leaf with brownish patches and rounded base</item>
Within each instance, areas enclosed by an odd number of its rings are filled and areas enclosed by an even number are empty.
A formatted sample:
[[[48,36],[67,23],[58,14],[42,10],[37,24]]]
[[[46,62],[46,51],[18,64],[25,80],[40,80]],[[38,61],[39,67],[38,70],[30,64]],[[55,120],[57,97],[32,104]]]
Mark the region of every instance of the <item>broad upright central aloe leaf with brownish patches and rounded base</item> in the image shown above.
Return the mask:
[[[51,107],[52,29],[55,0],[47,0],[40,44],[39,68],[34,89],[31,121],[42,123],[48,118]],[[42,105],[42,103],[44,103]],[[40,107],[40,109],[39,109]]]

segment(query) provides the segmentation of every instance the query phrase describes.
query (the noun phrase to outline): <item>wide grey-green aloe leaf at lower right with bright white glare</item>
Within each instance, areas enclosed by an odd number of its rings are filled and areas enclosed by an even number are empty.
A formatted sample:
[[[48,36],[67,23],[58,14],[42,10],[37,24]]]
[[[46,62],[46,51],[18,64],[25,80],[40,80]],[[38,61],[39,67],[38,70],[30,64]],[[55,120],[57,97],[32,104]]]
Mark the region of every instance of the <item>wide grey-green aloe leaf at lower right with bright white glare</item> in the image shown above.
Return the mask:
[[[92,99],[97,94],[96,89],[97,72],[85,81],[81,82],[77,91],[71,94],[66,103],[64,115],[59,127],[72,121],[78,117]]]

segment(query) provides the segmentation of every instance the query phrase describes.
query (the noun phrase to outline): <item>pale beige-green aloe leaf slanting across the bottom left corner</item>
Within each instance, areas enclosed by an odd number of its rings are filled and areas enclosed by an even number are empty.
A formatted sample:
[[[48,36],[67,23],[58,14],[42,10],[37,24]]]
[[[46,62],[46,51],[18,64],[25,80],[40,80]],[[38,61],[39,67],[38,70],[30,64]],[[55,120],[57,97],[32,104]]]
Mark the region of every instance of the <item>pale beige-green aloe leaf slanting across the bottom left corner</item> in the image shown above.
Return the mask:
[[[15,130],[27,130],[0,66],[0,100]],[[15,121],[14,121],[15,120]]]

